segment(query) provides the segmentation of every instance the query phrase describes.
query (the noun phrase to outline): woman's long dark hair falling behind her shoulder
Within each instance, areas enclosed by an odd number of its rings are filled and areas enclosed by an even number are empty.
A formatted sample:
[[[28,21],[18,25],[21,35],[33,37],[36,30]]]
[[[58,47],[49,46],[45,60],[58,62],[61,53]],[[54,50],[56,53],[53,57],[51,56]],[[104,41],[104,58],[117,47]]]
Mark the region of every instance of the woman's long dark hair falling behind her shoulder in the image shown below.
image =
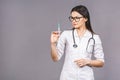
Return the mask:
[[[89,12],[88,12],[88,9],[83,6],[83,5],[78,5],[76,7],[74,7],[72,10],[71,10],[71,13],[73,11],[76,11],[78,12],[79,14],[81,14],[84,18],[87,19],[85,25],[86,25],[86,28],[91,32],[91,33],[94,33],[92,27],[91,27],[91,23],[90,23],[90,15],[89,15]]]

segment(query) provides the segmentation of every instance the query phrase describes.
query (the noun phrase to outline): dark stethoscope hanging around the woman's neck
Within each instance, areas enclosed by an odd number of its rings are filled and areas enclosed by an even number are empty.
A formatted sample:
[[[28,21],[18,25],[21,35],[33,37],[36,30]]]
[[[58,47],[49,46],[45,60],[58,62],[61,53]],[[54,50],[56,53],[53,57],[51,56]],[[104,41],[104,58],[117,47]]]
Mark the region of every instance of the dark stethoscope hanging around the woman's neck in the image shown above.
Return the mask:
[[[78,45],[77,45],[76,42],[75,42],[74,31],[75,31],[75,28],[73,28],[73,30],[72,30],[73,42],[74,42],[73,47],[74,47],[74,48],[77,48]],[[91,33],[91,34],[92,34],[92,37],[89,38],[89,40],[88,40],[87,47],[86,47],[86,51],[87,51],[87,49],[88,49],[88,45],[89,45],[89,43],[90,43],[90,40],[93,40],[93,50],[92,50],[92,53],[93,53],[93,51],[94,51],[94,46],[95,46],[95,39],[93,38],[93,33]]]

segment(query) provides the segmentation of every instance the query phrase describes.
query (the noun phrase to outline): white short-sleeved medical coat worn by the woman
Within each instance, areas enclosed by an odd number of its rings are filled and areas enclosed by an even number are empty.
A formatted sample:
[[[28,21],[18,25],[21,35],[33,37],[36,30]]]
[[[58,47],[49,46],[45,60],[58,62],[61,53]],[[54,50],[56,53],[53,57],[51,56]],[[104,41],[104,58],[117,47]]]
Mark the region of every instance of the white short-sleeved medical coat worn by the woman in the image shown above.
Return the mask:
[[[58,39],[58,58],[60,59],[65,53],[65,61],[61,71],[60,80],[94,80],[92,67],[78,67],[74,61],[81,58],[91,59],[93,54],[96,59],[104,62],[104,53],[100,37],[99,35],[94,34],[95,46],[94,53],[92,53],[92,40],[90,41],[86,51],[88,40],[92,37],[92,34],[88,30],[85,32],[83,37],[79,37],[75,30],[74,36],[75,42],[78,45],[77,48],[73,47],[74,42],[72,30],[63,31]]]

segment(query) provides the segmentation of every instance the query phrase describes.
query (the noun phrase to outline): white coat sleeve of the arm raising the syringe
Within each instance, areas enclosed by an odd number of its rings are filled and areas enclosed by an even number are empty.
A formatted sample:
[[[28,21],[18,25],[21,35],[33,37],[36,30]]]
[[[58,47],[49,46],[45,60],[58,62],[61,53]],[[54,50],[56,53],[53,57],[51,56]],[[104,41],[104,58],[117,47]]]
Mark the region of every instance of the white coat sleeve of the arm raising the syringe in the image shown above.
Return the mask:
[[[63,31],[58,39],[57,42],[57,56],[58,56],[58,60],[60,60],[60,58],[62,57],[62,55],[64,54],[64,49],[65,49],[65,42],[66,42],[66,36],[65,36],[65,31]]]

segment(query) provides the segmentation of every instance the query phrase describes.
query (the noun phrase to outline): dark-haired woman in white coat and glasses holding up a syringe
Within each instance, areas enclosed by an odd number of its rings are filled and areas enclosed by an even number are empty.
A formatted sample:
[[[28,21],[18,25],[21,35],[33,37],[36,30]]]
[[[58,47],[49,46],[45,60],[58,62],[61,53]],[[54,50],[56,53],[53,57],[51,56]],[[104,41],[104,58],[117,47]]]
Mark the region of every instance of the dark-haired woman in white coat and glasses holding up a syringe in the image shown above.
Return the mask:
[[[60,80],[94,80],[92,67],[104,65],[99,35],[93,32],[88,9],[75,6],[69,17],[73,29],[51,33],[51,57],[58,61],[65,53]],[[95,57],[91,59],[92,55]]]

